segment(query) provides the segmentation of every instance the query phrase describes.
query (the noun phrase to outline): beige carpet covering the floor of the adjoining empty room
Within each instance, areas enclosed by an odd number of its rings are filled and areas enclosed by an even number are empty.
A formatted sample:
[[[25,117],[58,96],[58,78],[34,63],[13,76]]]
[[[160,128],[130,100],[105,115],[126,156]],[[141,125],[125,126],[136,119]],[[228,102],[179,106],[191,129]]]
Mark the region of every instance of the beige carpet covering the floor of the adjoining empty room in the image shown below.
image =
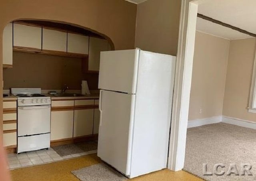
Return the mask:
[[[227,171],[235,163],[241,174],[242,163],[252,165],[252,175],[204,176],[203,163],[213,172],[213,165],[223,163]],[[184,170],[209,181],[255,181],[256,180],[256,130],[225,123],[189,128],[186,142]]]

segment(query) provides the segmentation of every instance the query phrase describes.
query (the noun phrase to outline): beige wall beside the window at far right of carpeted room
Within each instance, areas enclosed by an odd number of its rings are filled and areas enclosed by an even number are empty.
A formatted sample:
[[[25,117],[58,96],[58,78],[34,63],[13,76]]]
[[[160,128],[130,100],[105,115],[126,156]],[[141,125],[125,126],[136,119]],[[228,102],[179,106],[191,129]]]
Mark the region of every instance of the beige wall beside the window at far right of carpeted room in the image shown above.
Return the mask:
[[[230,42],[223,116],[256,122],[256,114],[247,110],[255,43],[255,38]]]

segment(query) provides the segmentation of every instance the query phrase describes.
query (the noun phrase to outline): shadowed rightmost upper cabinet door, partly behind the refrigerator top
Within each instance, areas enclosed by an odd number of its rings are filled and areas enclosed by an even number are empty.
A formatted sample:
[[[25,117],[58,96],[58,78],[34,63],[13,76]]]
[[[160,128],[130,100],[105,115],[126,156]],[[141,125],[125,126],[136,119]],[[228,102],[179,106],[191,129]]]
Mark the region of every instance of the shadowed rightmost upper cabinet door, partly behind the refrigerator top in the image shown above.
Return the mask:
[[[101,51],[108,51],[108,41],[106,39],[90,37],[88,71],[99,71]]]

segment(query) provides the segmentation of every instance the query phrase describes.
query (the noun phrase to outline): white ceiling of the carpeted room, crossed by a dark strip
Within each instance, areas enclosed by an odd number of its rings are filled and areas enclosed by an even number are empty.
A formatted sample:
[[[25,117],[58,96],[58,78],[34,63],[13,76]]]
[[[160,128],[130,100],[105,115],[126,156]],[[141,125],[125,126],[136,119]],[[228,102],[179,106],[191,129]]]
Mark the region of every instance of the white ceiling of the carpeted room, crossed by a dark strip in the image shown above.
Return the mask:
[[[256,0],[200,0],[198,13],[256,34]],[[251,37],[198,18],[197,30],[227,39]]]

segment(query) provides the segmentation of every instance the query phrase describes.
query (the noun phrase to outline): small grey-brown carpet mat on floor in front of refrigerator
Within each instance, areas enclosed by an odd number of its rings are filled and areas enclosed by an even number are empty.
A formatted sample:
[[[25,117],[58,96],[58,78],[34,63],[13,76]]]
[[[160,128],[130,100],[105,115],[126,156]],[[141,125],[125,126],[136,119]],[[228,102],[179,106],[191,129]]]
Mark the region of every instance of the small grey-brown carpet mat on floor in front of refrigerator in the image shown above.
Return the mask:
[[[112,169],[105,163],[71,171],[80,181],[125,181],[124,175]]]

